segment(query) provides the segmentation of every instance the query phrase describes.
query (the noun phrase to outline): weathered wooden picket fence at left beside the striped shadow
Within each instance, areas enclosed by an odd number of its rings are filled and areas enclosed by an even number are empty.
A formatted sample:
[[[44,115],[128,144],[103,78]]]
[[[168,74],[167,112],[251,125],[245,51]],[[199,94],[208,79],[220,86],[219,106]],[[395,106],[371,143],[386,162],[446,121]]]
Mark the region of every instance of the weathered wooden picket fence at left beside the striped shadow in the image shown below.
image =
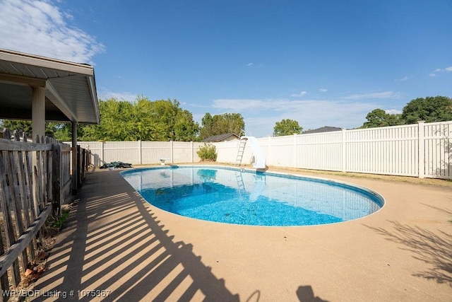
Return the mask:
[[[89,158],[82,149],[80,170],[87,169]],[[82,182],[85,173],[78,175]],[[70,195],[71,146],[48,137],[29,142],[26,134],[11,135],[5,129],[0,138],[0,177],[0,301],[6,301],[8,290],[20,282],[20,270],[25,272],[35,260],[45,220],[52,210],[59,214]]]

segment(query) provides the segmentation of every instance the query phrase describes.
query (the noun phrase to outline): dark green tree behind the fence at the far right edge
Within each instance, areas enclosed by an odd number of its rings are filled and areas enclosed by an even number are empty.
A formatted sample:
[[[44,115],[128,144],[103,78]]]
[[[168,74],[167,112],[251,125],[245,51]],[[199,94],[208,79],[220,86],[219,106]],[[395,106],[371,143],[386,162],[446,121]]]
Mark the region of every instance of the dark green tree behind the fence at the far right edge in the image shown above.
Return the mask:
[[[406,124],[425,122],[445,122],[452,120],[452,98],[446,96],[429,96],[411,100],[402,112]]]

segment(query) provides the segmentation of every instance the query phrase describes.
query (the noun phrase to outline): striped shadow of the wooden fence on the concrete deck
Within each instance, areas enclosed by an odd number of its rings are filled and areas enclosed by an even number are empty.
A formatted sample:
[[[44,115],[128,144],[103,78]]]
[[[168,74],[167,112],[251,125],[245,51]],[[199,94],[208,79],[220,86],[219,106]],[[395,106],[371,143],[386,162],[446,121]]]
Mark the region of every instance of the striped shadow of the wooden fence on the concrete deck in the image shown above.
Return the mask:
[[[36,290],[66,300],[88,301],[87,290],[97,290],[105,301],[239,301],[191,244],[168,236],[119,171],[90,173],[78,199]]]

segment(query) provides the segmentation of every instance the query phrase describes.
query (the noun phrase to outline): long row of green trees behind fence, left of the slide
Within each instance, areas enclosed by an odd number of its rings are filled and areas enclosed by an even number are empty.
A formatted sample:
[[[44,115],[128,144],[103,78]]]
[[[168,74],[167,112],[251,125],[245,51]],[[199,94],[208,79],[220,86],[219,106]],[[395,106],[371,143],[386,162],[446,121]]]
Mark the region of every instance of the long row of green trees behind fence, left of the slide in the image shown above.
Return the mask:
[[[201,125],[193,115],[180,107],[177,100],[151,101],[143,95],[136,101],[109,98],[99,100],[100,124],[78,124],[80,141],[202,141],[218,134],[244,133],[245,122],[239,113],[210,115]],[[3,120],[0,128],[32,132],[25,120]],[[70,123],[46,122],[45,132],[59,141],[70,141]]]

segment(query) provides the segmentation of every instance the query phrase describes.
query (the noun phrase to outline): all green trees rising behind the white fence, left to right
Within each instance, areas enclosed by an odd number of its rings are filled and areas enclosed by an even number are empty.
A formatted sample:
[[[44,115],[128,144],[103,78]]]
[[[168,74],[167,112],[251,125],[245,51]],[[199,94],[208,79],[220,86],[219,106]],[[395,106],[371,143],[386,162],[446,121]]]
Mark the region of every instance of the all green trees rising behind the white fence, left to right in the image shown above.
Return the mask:
[[[151,101],[143,95],[135,102],[99,100],[100,124],[79,124],[80,141],[202,141],[219,134],[244,133],[245,122],[239,113],[210,115],[206,113],[201,125],[193,115],[180,107],[177,100]],[[401,124],[444,122],[452,120],[452,98],[445,96],[416,98],[403,108],[402,113],[391,114],[376,108],[366,116],[359,128],[387,127]],[[46,134],[60,141],[70,141],[72,127],[69,123],[46,122]],[[0,128],[18,129],[31,133],[31,122],[2,120]],[[302,133],[296,120],[285,119],[275,123],[273,136]]]

